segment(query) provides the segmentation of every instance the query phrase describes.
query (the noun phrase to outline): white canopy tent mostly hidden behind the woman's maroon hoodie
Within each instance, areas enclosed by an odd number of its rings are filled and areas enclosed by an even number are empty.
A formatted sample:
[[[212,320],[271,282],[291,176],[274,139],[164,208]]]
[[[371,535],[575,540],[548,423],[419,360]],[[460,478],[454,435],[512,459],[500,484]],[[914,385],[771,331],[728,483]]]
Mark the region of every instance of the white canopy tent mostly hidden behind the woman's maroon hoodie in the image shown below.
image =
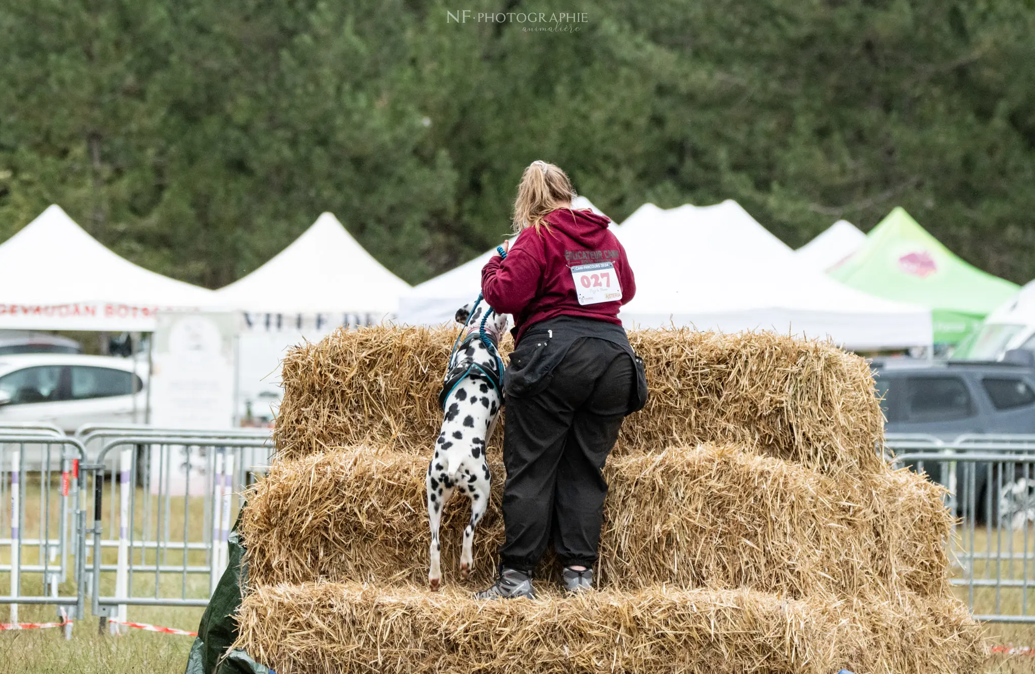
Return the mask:
[[[603,215],[585,196],[576,196],[571,206],[576,209],[588,208],[594,213]],[[400,299],[400,323],[411,326],[436,326],[452,320],[456,309],[478,297],[481,292],[481,268],[495,254],[495,248],[486,250],[456,269],[415,285]]]

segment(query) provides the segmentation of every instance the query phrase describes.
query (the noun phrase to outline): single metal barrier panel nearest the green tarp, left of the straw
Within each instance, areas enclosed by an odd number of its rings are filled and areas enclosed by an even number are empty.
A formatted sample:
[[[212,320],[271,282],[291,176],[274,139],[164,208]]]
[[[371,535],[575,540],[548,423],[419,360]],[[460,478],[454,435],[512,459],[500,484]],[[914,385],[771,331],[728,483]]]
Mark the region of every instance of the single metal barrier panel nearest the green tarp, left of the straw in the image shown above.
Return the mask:
[[[93,614],[125,621],[128,606],[205,606],[226,569],[250,458],[264,452],[265,462],[268,450],[262,437],[109,439],[89,466]],[[108,474],[118,489],[106,494]]]

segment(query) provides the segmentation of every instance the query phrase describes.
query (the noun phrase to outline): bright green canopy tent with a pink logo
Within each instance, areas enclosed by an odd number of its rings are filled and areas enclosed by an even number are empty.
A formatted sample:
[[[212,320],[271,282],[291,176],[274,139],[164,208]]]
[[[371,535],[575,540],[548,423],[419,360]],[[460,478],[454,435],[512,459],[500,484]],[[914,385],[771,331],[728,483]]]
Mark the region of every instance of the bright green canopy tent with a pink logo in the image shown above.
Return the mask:
[[[829,274],[877,297],[930,307],[936,344],[959,342],[1017,292],[1016,284],[956,257],[901,207]]]

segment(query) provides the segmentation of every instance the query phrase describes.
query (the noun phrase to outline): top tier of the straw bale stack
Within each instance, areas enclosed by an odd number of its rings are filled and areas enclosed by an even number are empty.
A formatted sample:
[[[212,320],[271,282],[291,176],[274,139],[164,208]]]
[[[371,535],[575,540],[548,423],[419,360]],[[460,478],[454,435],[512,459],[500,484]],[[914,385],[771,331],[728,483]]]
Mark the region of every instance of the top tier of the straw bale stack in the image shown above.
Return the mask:
[[[285,458],[368,442],[423,453],[442,422],[437,395],[455,330],[339,330],[285,359],[275,438]],[[770,332],[629,333],[651,398],[616,455],[736,442],[825,471],[875,470],[880,405],[866,362]],[[510,340],[504,340],[507,354]],[[497,433],[497,442],[502,434]]]

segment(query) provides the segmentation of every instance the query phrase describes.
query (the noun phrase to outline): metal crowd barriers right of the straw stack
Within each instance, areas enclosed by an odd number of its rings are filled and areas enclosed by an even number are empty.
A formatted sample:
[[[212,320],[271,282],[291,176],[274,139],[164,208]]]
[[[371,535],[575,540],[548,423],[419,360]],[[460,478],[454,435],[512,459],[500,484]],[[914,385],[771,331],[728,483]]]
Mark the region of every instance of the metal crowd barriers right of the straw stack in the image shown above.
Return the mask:
[[[974,617],[1035,622],[1035,436],[889,435],[893,465],[948,489],[950,582]]]

